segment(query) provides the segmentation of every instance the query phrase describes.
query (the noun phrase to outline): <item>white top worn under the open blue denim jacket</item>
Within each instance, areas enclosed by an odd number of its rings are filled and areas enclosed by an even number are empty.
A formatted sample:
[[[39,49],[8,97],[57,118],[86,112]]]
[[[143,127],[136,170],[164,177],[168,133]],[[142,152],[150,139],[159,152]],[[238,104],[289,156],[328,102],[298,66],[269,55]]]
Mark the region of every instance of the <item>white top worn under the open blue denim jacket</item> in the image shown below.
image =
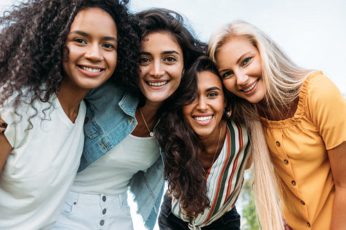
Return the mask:
[[[146,171],[160,157],[155,137],[128,135],[109,153],[77,173],[72,191],[89,194],[125,193],[138,171]]]

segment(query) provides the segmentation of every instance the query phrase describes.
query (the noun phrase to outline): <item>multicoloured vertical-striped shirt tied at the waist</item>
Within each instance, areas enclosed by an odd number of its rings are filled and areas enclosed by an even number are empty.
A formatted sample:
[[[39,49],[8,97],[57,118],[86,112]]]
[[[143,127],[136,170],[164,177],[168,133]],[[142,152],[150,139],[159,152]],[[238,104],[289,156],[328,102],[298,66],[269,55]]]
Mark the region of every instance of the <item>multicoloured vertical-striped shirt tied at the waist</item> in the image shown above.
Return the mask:
[[[250,142],[242,124],[228,121],[224,146],[206,175],[211,208],[203,214],[189,218],[181,210],[179,200],[172,199],[172,213],[186,222],[190,229],[201,229],[221,218],[233,206],[242,189]]]

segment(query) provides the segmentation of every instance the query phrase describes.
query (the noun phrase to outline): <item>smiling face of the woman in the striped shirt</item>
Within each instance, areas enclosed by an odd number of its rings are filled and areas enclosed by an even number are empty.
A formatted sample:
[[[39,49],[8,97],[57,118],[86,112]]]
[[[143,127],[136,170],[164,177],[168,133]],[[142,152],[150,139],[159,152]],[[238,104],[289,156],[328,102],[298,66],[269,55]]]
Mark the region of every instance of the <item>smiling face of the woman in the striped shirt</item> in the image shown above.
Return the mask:
[[[183,116],[199,137],[218,135],[226,105],[221,79],[210,71],[197,73],[197,97],[183,106]]]

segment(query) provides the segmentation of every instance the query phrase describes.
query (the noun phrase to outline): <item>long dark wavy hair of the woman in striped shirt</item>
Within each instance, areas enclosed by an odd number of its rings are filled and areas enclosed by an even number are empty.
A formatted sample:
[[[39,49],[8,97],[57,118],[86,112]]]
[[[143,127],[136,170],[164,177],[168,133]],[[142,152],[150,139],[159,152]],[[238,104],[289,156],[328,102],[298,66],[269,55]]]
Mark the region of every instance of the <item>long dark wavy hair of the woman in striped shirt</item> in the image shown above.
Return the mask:
[[[212,61],[202,56],[185,72],[172,98],[172,104],[156,126],[156,138],[165,150],[165,180],[174,197],[179,198],[187,215],[196,215],[210,207],[206,178],[199,159],[199,137],[183,116],[182,108],[197,96],[197,73],[209,71],[219,76]],[[221,79],[221,78],[220,78]],[[228,102],[229,107],[229,102]]]

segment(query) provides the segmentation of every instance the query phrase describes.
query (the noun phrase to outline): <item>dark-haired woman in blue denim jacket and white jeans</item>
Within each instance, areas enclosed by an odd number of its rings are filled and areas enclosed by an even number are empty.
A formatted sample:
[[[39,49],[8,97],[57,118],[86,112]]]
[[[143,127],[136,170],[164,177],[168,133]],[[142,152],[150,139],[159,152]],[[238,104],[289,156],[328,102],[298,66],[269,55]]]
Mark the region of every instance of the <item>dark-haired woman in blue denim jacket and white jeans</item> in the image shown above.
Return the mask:
[[[103,84],[87,95],[90,113],[80,171],[54,229],[133,229],[128,189],[145,226],[152,229],[156,222],[164,180],[154,126],[184,69],[206,46],[170,10],[138,12],[133,24],[140,37],[140,93]]]

